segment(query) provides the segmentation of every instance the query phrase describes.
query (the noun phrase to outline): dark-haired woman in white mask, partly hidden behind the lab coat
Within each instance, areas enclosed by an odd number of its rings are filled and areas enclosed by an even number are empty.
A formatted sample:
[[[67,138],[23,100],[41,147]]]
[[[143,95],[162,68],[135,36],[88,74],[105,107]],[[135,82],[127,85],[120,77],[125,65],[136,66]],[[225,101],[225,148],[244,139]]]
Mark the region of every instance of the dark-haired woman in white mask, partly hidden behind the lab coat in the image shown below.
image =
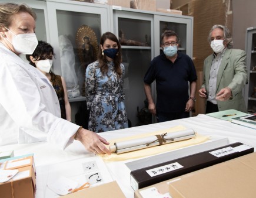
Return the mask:
[[[59,99],[61,118],[71,121],[71,107],[68,101],[66,83],[62,76],[51,71],[52,57],[55,57],[54,48],[49,43],[41,40],[38,41],[38,45],[32,54],[26,54],[26,60],[29,61],[29,64],[45,74],[52,83]]]

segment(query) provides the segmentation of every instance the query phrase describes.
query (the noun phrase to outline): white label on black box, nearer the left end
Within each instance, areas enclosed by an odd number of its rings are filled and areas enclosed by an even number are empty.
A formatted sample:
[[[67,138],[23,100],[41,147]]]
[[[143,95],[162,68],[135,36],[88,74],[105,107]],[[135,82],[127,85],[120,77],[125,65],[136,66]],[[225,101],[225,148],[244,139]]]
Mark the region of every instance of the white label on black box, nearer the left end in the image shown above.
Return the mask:
[[[154,176],[161,175],[161,174],[164,174],[164,173],[168,173],[168,172],[171,172],[173,170],[180,169],[180,168],[183,168],[183,166],[181,166],[178,162],[175,162],[175,163],[170,163],[168,165],[159,166],[159,167],[154,168],[154,169],[146,170],[146,172],[151,177],[154,177]]]

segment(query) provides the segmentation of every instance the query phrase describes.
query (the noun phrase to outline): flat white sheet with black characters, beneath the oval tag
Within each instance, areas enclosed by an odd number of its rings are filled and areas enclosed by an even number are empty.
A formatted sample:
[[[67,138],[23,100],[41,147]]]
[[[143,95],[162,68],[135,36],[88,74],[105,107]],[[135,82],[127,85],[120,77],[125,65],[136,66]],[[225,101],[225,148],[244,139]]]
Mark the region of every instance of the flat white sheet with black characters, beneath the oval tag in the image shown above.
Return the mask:
[[[47,186],[60,176],[74,180],[78,187],[90,183],[90,187],[112,182],[113,179],[99,156],[75,159],[54,165],[36,167],[36,198],[59,197]]]

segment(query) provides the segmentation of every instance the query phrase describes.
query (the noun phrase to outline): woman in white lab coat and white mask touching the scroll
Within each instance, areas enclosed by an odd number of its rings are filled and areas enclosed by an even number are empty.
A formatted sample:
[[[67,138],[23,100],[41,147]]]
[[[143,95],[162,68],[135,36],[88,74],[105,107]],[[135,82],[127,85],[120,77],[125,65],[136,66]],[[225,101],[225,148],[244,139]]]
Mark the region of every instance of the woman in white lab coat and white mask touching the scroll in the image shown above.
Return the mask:
[[[0,4],[0,145],[48,141],[64,149],[77,139],[110,153],[104,138],[61,118],[49,80],[18,56],[34,52],[35,18],[26,5]]]

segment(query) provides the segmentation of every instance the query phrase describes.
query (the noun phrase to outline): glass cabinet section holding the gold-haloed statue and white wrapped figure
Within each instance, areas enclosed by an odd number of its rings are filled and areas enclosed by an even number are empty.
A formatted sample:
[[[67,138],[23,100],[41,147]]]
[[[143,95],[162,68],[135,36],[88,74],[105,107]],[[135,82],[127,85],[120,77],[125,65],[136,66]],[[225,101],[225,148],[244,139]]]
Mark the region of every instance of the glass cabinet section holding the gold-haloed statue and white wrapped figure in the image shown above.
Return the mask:
[[[102,33],[110,29],[109,6],[47,0],[49,42],[54,46],[55,73],[65,78],[69,101],[85,100],[85,69],[97,59]]]

